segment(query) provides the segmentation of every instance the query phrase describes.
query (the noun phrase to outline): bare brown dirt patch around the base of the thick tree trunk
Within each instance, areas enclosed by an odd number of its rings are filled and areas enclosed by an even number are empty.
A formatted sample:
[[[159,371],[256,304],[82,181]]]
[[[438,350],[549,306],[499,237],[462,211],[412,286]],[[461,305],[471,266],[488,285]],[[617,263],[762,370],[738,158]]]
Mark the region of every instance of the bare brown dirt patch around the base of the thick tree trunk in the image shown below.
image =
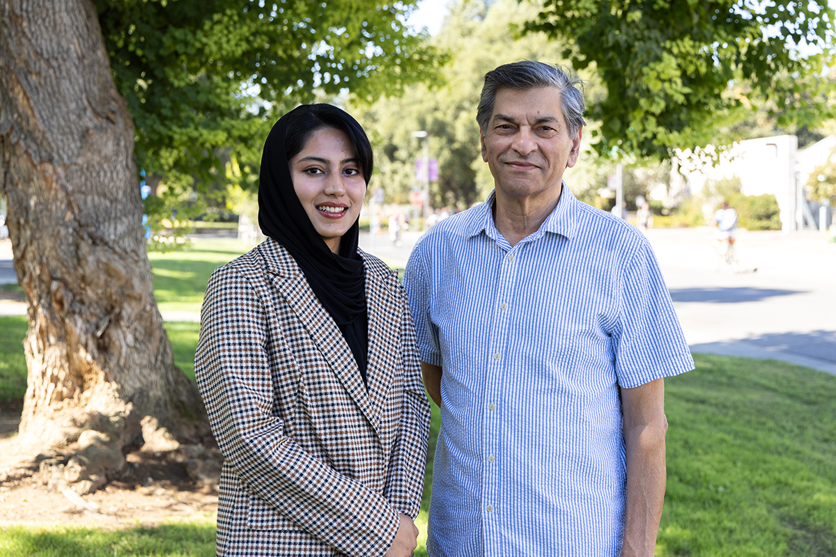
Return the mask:
[[[5,403],[0,412],[0,469],[14,458],[13,451],[4,448],[12,446],[19,421],[20,408]],[[52,468],[43,463],[37,470],[10,475],[0,483],[0,527],[62,524],[119,529],[171,519],[211,519],[217,513],[217,473],[210,468],[217,466],[205,464],[212,459],[219,464],[220,454],[217,448],[204,451],[204,465],[195,479],[195,463],[183,453],[129,453],[128,466],[117,479],[84,496],[56,482]]]

